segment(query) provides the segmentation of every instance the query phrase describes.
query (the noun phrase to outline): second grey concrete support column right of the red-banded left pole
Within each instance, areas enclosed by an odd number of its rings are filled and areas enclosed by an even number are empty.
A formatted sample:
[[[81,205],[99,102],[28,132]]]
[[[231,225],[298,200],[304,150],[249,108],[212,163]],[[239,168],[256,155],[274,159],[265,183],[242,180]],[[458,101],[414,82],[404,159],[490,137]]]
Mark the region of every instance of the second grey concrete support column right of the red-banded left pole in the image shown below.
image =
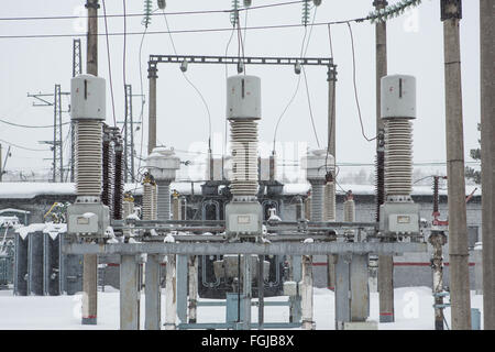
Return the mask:
[[[147,254],[145,270],[145,318],[144,328],[146,330],[161,330],[162,326],[162,296],[160,286],[162,256],[156,254]]]

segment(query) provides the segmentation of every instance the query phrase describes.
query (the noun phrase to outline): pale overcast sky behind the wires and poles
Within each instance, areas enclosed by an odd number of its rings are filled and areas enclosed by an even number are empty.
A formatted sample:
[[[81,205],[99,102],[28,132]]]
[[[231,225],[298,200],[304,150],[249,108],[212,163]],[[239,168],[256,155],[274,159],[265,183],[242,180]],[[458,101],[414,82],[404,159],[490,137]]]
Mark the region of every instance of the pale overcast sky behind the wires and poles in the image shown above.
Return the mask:
[[[52,16],[85,14],[82,0],[16,0],[2,1],[1,18]],[[284,2],[284,0],[253,0],[253,6]],[[329,22],[362,18],[372,10],[372,0],[323,0],[318,8],[316,22]],[[391,3],[396,2],[389,0]],[[101,3],[101,0],[100,0]],[[167,12],[193,10],[229,9],[231,0],[167,0]],[[123,13],[121,0],[106,0],[108,14]],[[156,1],[153,1],[154,9]],[[128,13],[141,13],[142,0],[127,0]],[[102,7],[100,14],[102,14]],[[160,12],[158,12],[160,13]],[[252,10],[248,13],[248,26],[298,24],[301,4],[272,9]],[[170,30],[229,28],[228,13],[168,15]],[[127,21],[128,32],[142,32],[142,16],[131,16]],[[86,20],[0,21],[0,36],[23,34],[85,34]],[[245,13],[241,14],[241,25],[245,24]],[[356,54],[359,100],[364,130],[367,136],[375,131],[375,31],[369,22],[352,24]],[[109,18],[110,33],[123,31],[122,18]],[[150,32],[165,31],[163,15],[152,18]],[[99,20],[99,31],[105,32],[103,19]],[[332,25],[334,63],[338,65],[337,87],[337,161],[338,163],[363,163],[374,161],[375,144],[361,135],[358,110],[352,85],[352,56],[349,29],[345,24]],[[174,34],[178,54],[224,55],[231,32]],[[304,28],[248,31],[244,51],[246,56],[298,56],[302,43]],[[309,34],[309,29],[307,34]],[[308,36],[306,36],[308,37]],[[127,80],[134,94],[141,92],[139,47],[142,35],[129,35],[127,40]],[[82,61],[86,62],[86,38],[82,36]],[[123,37],[110,36],[110,57],[114,107],[117,120],[123,119]],[[408,74],[417,78],[418,118],[414,121],[415,163],[444,162],[444,89],[443,89],[443,31],[440,21],[440,1],[425,0],[415,11],[388,22],[388,73]],[[52,108],[34,108],[28,92],[53,92],[54,85],[61,84],[69,90],[72,77],[72,37],[59,38],[0,38],[0,119],[21,124],[45,125],[53,122]],[[480,41],[479,2],[464,1],[461,22],[464,146],[466,161],[469,150],[477,147],[480,121]],[[237,55],[238,40],[233,36],[230,55]],[[150,54],[173,54],[167,34],[147,34],[144,37],[142,63],[144,94],[147,95],[147,57]],[[310,36],[308,57],[329,57],[329,33],[326,25],[315,26]],[[99,75],[109,78],[107,42],[99,37]],[[86,66],[86,65],[85,65]],[[84,68],[86,70],[86,67]],[[230,67],[229,74],[234,73]],[[273,141],[275,123],[293,96],[297,78],[292,67],[248,66],[248,74],[262,78],[262,121],[260,139],[264,145]],[[222,152],[224,131],[226,68],[221,65],[189,65],[188,78],[204,95],[212,119],[215,153]],[[176,150],[190,151],[206,143],[208,119],[205,106],[196,91],[180,74],[178,65],[158,67],[157,139],[160,144]],[[327,70],[324,67],[307,67],[311,106],[321,146],[327,141]],[[107,94],[107,122],[113,124],[110,85]],[[65,99],[65,98],[64,98]],[[67,103],[64,100],[64,103]],[[140,98],[134,98],[134,119],[140,118]],[[68,121],[69,117],[64,117]],[[144,144],[146,154],[147,105],[144,108]],[[64,128],[64,138],[68,130]],[[138,153],[141,131],[136,132]],[[51,129],[28,130],[9,127],[0,122],[0,139],[31,148],[45,148],[38,141],[53,139]],[[308,143],[317,147],[312,132],[306,88],[301,80],[293,105],[284,116],[277,141],[285,143]],[[3,151],[7,146],[3,144]],[[68,143],[67,143],[68,146]],[[67,148],[66,148],[67,151]],[[285,158],[297,155],[292,152]],[[183,154],[184,157],[187,154]],[[8,169],[50,169],[51,152],[29,152],[13,148]],[[300,155],[299,155],[300,156]],[[68,160],[67,160],[68,161]]]

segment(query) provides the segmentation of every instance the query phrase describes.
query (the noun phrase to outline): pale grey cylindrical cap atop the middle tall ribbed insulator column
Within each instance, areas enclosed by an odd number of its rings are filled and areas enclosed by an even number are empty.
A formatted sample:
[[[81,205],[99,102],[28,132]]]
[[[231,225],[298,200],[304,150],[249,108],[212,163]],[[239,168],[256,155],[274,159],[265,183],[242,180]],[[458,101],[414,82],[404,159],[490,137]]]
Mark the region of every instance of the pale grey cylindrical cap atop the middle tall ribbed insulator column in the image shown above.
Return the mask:
[[[227,118],[261,119],[261,79],[237,75],[227,79]]]

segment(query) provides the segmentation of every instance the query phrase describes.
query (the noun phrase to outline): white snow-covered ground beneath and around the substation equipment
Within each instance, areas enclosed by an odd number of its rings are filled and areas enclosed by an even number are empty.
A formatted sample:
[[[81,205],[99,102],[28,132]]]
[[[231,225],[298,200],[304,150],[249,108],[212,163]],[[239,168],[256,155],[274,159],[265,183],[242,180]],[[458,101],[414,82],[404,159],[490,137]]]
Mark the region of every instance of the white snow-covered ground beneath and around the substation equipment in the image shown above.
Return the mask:
[[[165,307],[164,293],[162,307]],[[333,293],[315,289],[315,321],[317,330],[334,329]],[[266,298],[270,300],[286,300],[287,297]],[[381,323],[380,330],[432,330],[433,299],[428,287],[405,287],[395,289],[396,322]],[[471,296],[472,308],[482,310],[483,297]],[[80,324],[81,296],[13,296],[12,290],[0,292],[0,330],[9,329],[56,329],[56,330],[92,330],[119,329],[119,292],[107,286],[105,293],[98,293],[98,324]],[[483,310],[482,310],[483,311]],[[164,311],[162,311],[164,315]],[[223,322],[223,307],[199,307],[198,322]],[[265,321],[288,321],[288,307],[266,307]],[[450,309],[446,309],[446,318],[450,324]],[[257,319],[257,308],[253,307],[253,322]],[[371,294],[370,319],[378,321],[378,294]],[[162,318],[164,321],[164,316]],[[483,319],[482,319],[483,323]],[[144,295],[141,298],[141,327],[144,327]],[[482,326],[483,329],[483,326]]]

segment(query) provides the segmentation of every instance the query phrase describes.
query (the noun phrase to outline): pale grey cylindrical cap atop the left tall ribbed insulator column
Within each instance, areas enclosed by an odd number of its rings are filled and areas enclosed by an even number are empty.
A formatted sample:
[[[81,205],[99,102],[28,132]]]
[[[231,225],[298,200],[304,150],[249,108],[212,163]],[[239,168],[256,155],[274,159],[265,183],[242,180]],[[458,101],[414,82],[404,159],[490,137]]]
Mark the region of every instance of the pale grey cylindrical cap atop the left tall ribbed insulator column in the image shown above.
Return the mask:
[[[78,75],[70,80],[70,119],[106,119],[105,78]]]

